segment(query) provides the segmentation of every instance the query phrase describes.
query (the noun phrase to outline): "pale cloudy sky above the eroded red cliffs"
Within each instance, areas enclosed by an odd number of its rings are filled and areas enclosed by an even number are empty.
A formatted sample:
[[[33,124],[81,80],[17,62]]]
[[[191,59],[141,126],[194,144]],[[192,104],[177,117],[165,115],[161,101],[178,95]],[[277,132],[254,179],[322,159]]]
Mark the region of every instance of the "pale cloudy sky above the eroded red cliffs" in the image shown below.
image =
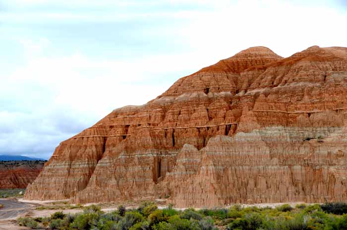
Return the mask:
[[[347,0],[0,0],[0,155],[48,159],[251,46],[347,46],[346,24]]]

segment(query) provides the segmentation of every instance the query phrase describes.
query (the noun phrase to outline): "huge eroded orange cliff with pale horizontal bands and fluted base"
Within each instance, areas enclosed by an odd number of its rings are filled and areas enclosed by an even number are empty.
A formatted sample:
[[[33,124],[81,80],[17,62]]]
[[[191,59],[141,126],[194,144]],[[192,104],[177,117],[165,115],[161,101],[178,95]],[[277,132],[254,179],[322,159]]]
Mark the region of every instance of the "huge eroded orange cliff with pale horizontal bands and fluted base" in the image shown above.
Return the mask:
[[[59,144],[27,199],[347,201],[347,48],[252,47]]]

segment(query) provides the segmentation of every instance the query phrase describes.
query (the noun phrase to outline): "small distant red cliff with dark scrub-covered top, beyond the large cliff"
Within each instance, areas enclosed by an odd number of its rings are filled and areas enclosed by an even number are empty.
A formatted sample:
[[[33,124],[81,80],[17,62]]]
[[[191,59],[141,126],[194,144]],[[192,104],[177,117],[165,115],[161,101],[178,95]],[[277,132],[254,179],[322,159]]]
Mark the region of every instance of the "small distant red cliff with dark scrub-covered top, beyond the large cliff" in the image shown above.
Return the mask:
[[[46,161],[0,161],[0,189],[26,188],[40,174]]]

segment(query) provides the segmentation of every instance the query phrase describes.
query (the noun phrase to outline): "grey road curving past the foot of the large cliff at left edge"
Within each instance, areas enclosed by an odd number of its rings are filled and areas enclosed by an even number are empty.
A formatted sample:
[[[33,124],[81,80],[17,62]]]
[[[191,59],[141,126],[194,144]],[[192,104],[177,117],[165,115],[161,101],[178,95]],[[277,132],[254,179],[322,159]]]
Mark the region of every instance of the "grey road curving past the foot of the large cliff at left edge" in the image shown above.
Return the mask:
[[[0,220],[16,219],[19,215],[26,213],[32,206],[14,199],[0,199],[3,208],[0,209]]]

